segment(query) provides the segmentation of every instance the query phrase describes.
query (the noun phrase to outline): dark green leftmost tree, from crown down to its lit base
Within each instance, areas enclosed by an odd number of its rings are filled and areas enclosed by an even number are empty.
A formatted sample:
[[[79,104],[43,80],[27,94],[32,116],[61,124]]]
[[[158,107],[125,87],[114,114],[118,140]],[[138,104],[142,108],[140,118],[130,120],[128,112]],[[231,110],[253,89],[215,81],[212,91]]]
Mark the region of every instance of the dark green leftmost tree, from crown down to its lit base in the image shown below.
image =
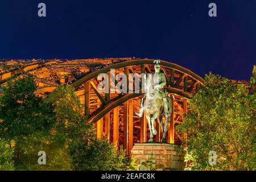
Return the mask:
[[[31,169],[38,151],[54,126],[53,107],[36,97],[36,83],[29,73],[7,80],[0,96],[0,137],[14,145],[15,169]]]

